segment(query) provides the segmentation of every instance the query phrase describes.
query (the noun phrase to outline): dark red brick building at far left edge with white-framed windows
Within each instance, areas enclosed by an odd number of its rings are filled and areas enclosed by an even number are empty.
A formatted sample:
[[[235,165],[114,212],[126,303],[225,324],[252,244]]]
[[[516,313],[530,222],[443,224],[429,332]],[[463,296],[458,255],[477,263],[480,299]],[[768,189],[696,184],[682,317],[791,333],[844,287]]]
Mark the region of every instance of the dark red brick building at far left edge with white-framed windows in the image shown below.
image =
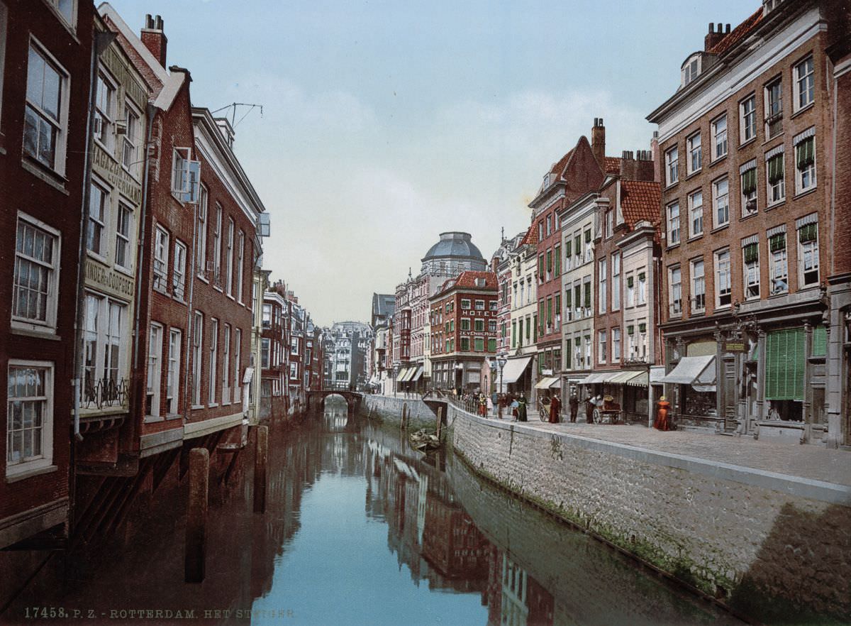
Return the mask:
[[[91,3],[0,3],[0,548],[66,534],[93,24]]]

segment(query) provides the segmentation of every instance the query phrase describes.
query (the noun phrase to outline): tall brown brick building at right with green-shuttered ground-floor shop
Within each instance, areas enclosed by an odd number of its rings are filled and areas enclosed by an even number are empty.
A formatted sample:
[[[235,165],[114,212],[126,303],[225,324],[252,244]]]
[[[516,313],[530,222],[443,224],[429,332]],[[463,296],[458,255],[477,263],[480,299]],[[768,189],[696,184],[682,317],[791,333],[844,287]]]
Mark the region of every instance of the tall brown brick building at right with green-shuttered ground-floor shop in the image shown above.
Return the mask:
[[[836,149],[825,48],[847,12],[767,1],[732,31],[710,25],[677,93],[648,116],[663,172],[665,394],[681,422],[840,437],[825,396]]]

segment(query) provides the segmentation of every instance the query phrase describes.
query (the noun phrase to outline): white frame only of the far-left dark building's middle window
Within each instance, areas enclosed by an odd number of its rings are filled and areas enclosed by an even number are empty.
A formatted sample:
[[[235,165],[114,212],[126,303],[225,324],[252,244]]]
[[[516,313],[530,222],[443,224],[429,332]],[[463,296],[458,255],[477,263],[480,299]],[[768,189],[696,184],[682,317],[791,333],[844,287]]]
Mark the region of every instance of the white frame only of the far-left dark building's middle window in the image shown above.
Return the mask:
[[[38,234],[43,235],[45,238],[44,241],[47,241],[47,238],[50,238],[52,241],[51,244],[51,256],[50,261],[43,261],[42,259],[38,259],[35,256],[26,254],[26,230],[24,234],[24,243],[22,244],[23,250],[18,250],[18,241],[19,234],[21,229],[30,228],[32,229],[33,241],[35,241],[35,237]],[[40,231],[40,233],[39,233]],[[62,256],[61,250],[62,236],[61,233],[56,230],[54,227],[49,227],[41,220],[37,220],[35,217],[31,215],[27,215],[22,211],[18,211],[18,221],[15,227],[15,247],[14,247],[14,263],[13,263],[13,276],[12,276],[12,302],[10,302],[10,312],[11,312],[11,325],[13,328],[23,329],[23,330],[31,330],[37,332],[45,332],[49,334],[54,334],[56,331],[56,309],[58,306],[58,294],[59,294],[59,276],[60,276],[60,260]],[[24,315],[16,315],[15,311],[17,307],[15,306],[15,302],[18,302],[18,294],[17,290],[21,289],[23,285],[18,282],[18,274],[19,274],[19,263],[26,262],[29,266],[35,265],[37,267],[43,268],[46,271],[46,277],[44,282],[46,284],[43,285],[43,291],[38,290],[38,293],[43,294],[44,297],[44,319],[31,318],[26,317]],[[39,280],[39,282],[41,282]],[[41,285],[40,285],[41,286]],[[28,289],[28,286],[26,287]],[[39,305],[41,306],[41,305]],[[29,307],[26,307],[27,310]]]

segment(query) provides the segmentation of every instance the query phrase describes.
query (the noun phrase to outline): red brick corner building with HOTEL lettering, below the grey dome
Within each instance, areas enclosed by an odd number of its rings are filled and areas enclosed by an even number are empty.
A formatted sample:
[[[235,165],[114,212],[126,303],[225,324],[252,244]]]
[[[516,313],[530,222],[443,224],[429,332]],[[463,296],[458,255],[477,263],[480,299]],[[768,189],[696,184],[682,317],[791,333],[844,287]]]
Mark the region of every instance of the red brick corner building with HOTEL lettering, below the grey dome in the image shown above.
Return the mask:
[[[445,281],[429,302],[434,386],[465,391],[483,388],[484,359],[496,354],[496,274],[462,272]]]

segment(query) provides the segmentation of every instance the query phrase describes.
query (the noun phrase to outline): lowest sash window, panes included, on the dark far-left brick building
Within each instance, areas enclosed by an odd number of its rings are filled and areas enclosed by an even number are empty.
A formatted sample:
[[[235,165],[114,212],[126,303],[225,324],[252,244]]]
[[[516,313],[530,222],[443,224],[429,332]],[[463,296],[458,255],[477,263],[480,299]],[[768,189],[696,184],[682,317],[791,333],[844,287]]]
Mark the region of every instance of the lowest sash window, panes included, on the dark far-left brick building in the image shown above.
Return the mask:
[[[53,462],[53,374],[49,362],[9,360],[7,477]]]

